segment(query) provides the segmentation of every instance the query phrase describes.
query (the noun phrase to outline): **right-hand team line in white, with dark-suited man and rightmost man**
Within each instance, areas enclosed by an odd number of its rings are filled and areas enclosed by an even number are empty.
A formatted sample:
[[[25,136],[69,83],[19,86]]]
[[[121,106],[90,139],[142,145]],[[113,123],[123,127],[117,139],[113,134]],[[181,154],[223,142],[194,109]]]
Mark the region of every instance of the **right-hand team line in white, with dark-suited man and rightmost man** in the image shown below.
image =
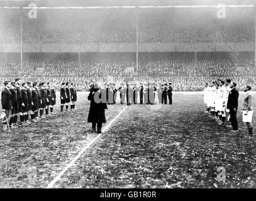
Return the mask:
[[[237,84],[231,82],[230,79],[225,81],[217,79],[209,84],[206,83],[204,88],[204,104],[206,104],[206,112],[209,112],[216,120],[220,121],[220,125],[226,124],[227,112],[229,113],[228,121],[231,122],[233,132],[238,131],[237,111],[239,92],[236,89]],[[242,112],[243,122],[247,124],[248,133],[253,135],[252,127],[252,87],[243,86],[245,95],[243,96]]]

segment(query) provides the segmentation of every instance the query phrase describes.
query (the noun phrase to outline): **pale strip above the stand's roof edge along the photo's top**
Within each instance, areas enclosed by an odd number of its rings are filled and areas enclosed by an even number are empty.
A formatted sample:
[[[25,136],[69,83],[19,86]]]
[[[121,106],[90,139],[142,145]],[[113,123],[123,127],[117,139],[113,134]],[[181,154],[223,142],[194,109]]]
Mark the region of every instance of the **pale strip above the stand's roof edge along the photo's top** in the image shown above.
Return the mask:
[[[0,0],[0,6],[196,6],[196,5],[255,5],[254,0]]]

